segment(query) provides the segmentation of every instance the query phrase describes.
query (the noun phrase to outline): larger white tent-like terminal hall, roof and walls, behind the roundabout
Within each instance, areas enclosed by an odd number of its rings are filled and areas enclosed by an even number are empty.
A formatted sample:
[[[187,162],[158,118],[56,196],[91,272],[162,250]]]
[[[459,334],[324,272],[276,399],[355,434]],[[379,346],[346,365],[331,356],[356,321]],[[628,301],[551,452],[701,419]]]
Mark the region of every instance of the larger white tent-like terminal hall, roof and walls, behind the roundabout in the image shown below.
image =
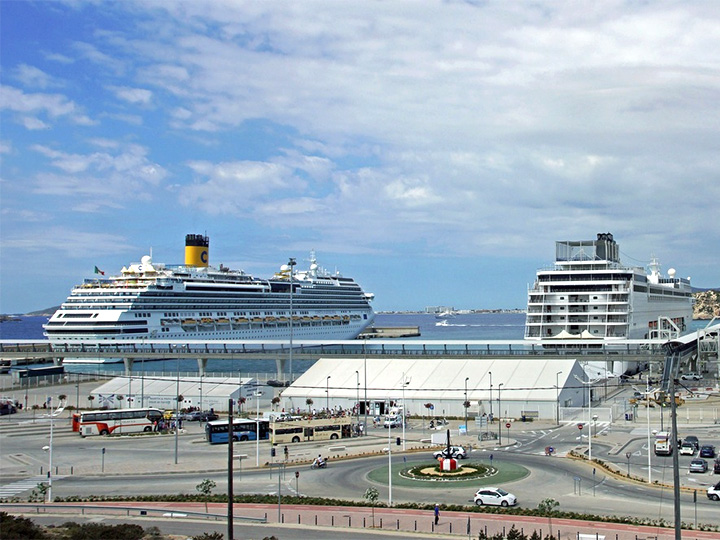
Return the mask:
[[[559,407],[583,407],[588,376],[575,359],[321,358],[281,394],[285,410],[353,409],[383,415],[554,419]],[[593,400],[600,396],[593,395]],[[356,411],[357,412],[357,411]]]

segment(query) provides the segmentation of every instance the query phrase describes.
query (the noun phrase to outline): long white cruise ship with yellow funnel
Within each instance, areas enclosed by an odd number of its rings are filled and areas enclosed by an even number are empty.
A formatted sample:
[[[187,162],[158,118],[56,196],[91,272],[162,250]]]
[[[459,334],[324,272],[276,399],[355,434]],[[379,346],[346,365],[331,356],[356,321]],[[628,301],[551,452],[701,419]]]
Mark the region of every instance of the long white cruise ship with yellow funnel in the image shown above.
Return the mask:
[[[146,255],[118,275],[86,279],[44,326],[54,344],[167,340],[353,339],[374,319],[373,294],[320,268],[283,265],[260,279],[208,264],[207,236],[185,238],[185,264]]]

